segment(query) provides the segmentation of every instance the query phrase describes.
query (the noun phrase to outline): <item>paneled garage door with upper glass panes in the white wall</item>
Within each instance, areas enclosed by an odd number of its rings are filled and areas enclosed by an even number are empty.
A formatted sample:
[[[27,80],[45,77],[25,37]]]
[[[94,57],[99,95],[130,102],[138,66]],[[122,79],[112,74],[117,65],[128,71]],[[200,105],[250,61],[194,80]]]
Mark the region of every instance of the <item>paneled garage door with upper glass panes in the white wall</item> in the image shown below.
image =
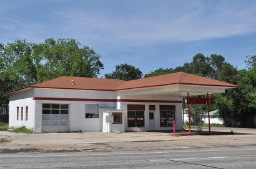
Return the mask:
[[[42,132],[69,132],[69,104],[42,104]]]

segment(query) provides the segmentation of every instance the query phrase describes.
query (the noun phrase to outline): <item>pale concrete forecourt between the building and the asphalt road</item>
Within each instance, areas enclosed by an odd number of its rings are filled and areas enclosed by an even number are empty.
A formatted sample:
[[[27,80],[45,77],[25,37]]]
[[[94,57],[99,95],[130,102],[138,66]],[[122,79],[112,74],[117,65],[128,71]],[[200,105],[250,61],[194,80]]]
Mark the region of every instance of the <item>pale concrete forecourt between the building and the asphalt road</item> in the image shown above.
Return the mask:
[[[0,144],[0,149],[19,150],[20,148],[29,148],[35,150],[35,152],[51,152],[59,150],[114,151],[256,145],[256,129],[212,127],[212,130],[233,130],[234,135],[172,137],[169,132],[30,134]]]

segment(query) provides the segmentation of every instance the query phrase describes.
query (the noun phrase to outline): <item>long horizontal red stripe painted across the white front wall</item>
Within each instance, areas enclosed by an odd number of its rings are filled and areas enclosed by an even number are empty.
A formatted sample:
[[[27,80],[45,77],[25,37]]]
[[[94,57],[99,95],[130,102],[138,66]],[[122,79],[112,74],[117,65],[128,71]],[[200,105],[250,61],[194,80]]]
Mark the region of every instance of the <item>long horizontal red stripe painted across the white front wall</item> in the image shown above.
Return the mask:
[[[143,99],[80,99],[80,98],[41,98],[41,97],[34,97],[33,100],[53,100],[53,101],[102,101],[102,102],[143,102],[143,103],[182,103],[182,101],[143,100]]]

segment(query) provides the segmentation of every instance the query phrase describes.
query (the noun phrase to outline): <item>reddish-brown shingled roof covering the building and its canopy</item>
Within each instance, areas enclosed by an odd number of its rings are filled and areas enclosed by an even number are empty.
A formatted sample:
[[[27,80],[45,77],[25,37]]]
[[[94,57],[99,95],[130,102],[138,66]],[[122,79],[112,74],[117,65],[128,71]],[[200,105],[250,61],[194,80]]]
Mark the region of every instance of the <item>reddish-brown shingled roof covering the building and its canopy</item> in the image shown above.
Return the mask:
[[[74,84],[71,83],[74,81]],[[212,80],[202,76],[192,75],[189,73],[178,72],[168,75],[154,76],[150,78],[142,78],[139,80],[113,80],[101,78],[84,78],[73,76],[62,76],[52,80],[37,83],[26,88],[17,89],[5,94],[11,94],[16,91],[29,88],[50,88],[50,89],[82,89],[97,91],[124,91],[140,88],[155,88],[159,86],[175,86],[175,85],[192,85],[192,86],[215,86],[222,88],[237,88],[239,86],[225,83],[223,81]]]

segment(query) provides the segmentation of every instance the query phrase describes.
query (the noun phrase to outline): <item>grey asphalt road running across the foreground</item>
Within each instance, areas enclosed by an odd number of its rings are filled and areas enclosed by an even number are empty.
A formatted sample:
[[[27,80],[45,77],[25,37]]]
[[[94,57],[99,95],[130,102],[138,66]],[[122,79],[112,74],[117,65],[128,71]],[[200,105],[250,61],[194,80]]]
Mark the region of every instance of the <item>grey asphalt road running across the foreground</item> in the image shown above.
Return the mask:
[[[0,168],[256,168],[256,147],[137,152],[2,153]]]

